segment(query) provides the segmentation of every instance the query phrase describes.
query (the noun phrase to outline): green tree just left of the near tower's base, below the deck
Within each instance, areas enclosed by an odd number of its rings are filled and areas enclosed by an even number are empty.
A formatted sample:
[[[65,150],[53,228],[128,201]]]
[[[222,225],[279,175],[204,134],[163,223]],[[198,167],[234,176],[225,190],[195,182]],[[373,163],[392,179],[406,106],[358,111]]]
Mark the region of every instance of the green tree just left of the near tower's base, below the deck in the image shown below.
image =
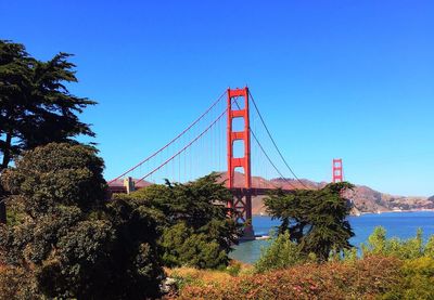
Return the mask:
[[[151,185],[117,199],[132,200],[159,212],[162,258],[167,266],[224,268],[241,227],[228,218],[231,197],[218,174],[180,184]]]

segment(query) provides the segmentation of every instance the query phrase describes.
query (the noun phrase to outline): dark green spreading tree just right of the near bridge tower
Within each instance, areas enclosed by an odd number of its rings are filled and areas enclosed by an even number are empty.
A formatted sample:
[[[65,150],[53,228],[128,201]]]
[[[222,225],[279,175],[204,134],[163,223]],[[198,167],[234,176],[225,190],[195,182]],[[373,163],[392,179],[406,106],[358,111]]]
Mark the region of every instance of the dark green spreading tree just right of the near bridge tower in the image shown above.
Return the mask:
[[[265,199],[265,205],[273,219],[282,221],[280,234],[289,231],[303,253],[312,252],[319,261],[326,261],[332,250],[350,247],[348,239],[354,233],[346,220],[350,206],[342,193],[352,187],[344,182],[318,191],[297,190],[291,194],[278,190]]]

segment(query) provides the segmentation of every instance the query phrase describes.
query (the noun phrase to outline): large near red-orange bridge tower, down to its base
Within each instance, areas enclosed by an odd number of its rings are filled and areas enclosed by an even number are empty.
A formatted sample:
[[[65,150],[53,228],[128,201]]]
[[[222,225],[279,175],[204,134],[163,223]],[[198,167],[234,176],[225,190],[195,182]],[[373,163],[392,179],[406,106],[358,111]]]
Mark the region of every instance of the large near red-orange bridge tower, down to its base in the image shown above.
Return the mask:
[[[233,102],[234,97],[243,99],[244,107],[240,108]],[[242,131],[232,130],[232,121],[235,118],[244,119],[244,129]],[[253,239],[254,232],[252,226],[252,173],[251,173],[251,132],[248,114],[248,88],[228,89],[228,188],[233,193],[233,198],[228,201],[228,207],[233,208],[238,214],[235,221],[245,224],[244,238]],[[244,156],[233,156],[233,142],[242,141],[244,143]],[[243,168],[244,184],[235,186],[235,168]]]

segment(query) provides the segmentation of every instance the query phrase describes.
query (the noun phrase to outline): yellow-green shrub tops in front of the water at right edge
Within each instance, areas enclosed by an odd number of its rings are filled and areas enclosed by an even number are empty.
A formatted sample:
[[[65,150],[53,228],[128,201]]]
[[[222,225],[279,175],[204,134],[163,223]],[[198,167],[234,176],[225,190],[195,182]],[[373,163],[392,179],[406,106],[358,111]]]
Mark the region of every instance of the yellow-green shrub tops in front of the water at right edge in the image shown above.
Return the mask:
[[[386,230],[382,226],[374,229],[373,233],[369,236],[368,243],[361,245],[363,256],[382,255],[393,256],[403,260],[416,259],[432,253],[432,242],[426,246],[423,245],[422,230],[419,229],[416,236],[409,239],[399,239],[396,237],[387,238]]]

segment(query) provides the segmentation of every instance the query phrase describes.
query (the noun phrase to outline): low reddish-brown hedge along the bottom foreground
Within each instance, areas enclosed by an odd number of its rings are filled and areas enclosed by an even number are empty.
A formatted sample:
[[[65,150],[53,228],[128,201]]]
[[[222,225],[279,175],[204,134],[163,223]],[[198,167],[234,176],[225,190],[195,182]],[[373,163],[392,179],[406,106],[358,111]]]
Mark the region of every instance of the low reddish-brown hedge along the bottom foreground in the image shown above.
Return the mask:
[[[179,296],[180,299],[372,299],[399,283],[400,265],[395,258],[374,256],[354,263],[306,263],[225,283],[186,285]]]

